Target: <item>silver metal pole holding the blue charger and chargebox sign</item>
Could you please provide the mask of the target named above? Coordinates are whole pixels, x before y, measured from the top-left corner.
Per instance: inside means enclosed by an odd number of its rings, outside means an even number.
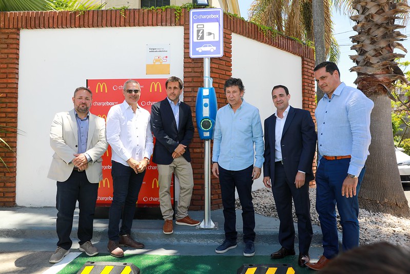
[[[210,58],[204,58],[204,87],[210,87]],[[211,140],[204,140],[204,186],[205,208],[204,221],[197,228],[217,229],[218,224],[211,220]]]

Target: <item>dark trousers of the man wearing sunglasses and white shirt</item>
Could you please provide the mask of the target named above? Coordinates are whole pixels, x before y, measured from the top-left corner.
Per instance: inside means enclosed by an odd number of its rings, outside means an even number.
[[[131,233],[135,204],[138,200],[145,170],[136,174],[132,168],[112,161],[111,175],[113,197],[109,211],[108,238],[118,242],[120,235]]]

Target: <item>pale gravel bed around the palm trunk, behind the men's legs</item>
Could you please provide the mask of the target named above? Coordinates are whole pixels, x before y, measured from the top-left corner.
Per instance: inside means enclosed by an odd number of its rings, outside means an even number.
[[[316,212],[316,189],[309,189],[310,216],[312,223],[320,226],[319,216]],[[278,217],[274,197],[270,189],[262,188],[252,191],[253,207],[255,212],[264,216]],[[239,199],[236,200],[237,208],[241,208]],[[294,221],[297,222],[294,212]],[[336,210],[339,220],[339,214]],[[395,245],[410,245],[410,218],[399,218],[390,214],[368,212],[359,209],[360,244],[375,242],[389,242]],[[338,229],[342,231],[338,223]]]

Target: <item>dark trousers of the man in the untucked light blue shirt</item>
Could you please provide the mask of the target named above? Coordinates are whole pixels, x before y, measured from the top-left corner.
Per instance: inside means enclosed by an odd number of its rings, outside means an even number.
[[[219,166],[219,182],[221,185],[222,205],[225,217],[225,239],[236,243],[235,188],[238,191],[242,206],[243,241],[255,241],[255,210],[252,204],[252,170],[253,166],[244,170],[231,171]]]

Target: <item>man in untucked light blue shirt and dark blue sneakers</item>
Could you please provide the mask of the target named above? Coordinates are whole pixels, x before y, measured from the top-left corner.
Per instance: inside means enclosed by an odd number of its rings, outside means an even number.
[[[215,252],[225,253],[237,247],[235,188],[242,206],[243,255],[255,254],[255,211],[252,183],[261,175],[263,132],[259,110],[243,100],[241,79],[229,78],[224,85],[228,104],[219,109],[212,151],[212,173],[219,178],[225,217],[225,241]],[[253,165],[255,161],[255,166]]]

